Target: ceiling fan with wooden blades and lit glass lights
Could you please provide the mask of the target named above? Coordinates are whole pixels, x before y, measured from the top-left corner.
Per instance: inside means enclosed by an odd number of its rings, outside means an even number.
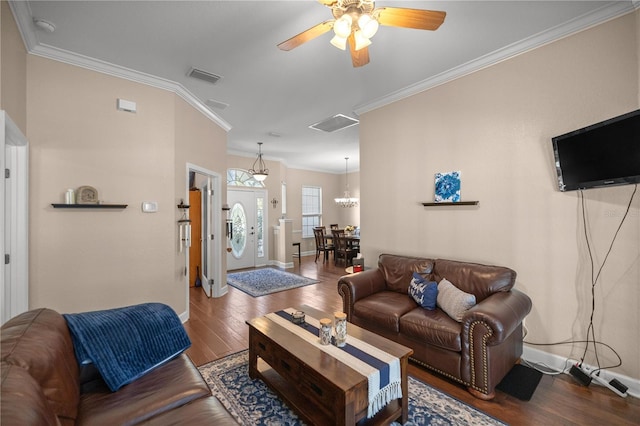
[[[444,22],[446,12],[400,7],[375,8],[373,0],[318,0],[331,9],[334,19],[321,22],[289,40],[278,44],[280,50],[292,50],[303,43],[321,36],[333,28],[335,36],[331,44],[346,50],[349,43],[354,67],[369,63],[371,37],[379,25],[389,27],[437,30]]]

